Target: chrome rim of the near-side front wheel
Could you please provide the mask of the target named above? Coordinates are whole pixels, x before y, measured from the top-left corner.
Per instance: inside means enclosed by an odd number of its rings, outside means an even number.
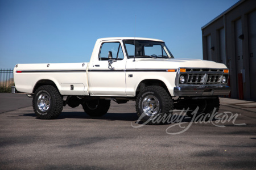
[[[153,95],[144,97],[142,101],[142,109],[147,116],[154,116],[159,111],[159,101]]]

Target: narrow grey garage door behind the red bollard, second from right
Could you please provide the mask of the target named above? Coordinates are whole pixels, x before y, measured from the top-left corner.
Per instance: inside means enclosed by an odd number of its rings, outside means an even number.
[[[239,36],[242,35],[242,20],[238,19],[234,23],[234,29],[235,29],[235,51],[236,51],[236,71],[237,74],[241,73],[241,70],[243,69],[243,44],[242,40],[239,39]],[[236,76],[237,76],[236,74]],[[238,96],[238,79],[237,79],[237,96]]]

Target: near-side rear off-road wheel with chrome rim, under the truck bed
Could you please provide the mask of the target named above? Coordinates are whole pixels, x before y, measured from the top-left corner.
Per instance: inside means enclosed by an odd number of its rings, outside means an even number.
[[[39,106],[40,103],[43,103],[43,96],[45,96],[44,98],[48,98],[47,109]],[[39,102],[39,99],[41,99],[41,102]],[[35,91],[32,105],[36,116],[40,119],[54,119],[60,115],[63,109],[63,96],[51,85],[40,86]]]

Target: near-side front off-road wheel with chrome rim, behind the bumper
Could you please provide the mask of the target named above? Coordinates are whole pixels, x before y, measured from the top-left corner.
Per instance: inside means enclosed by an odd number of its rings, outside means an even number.
[[[153,102],[152,102],[153,101]],[[154,104],[152,104],[152,103]],[[157,103],[155,105],[155,103]],[[159,106],[158,106],[159,104]],[[155,111],[145,111],[145,108]],[[148,125],[164,124],[164,117],[171,116],[174,109],[174,103],[168,92],[160,86],[148,86],[139,92],[136,100],[136,111],[139,121]]]

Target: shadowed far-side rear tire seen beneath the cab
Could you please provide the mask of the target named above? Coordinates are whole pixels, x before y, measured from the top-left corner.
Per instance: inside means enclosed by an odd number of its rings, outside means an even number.
[[[97,99],[82,102],[84,112],[92,117],[103,116],[109,111],[110,100]]]

